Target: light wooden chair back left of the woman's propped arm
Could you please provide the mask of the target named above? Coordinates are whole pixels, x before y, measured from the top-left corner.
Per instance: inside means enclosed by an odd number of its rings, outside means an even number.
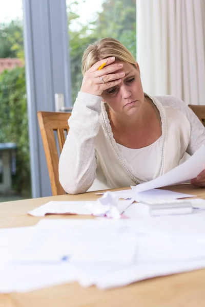
[[[65,194],[58,180],[58,161],[69,131],[71,113],[37,112],[53,195]],[[56,131],[56,133],[55,133]],[[55,135],[56,134],[56,135]],[[56,140],[58,141],[58,148]]]

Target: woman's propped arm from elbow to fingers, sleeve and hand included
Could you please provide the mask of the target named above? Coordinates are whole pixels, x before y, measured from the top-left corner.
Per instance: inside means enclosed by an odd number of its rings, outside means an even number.
[[[105,61],[106,66],[99,70]],[[99,131],[101,94],[121,82],[116,72],[120,64],[114,62],[115,57],[100,60],[84,75],[59,159],[59,181],[67,193],[86,192],[96,178],[94,138]]]

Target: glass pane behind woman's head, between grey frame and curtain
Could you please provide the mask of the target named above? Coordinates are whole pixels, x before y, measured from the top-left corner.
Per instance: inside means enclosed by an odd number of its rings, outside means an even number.
[[[136,0],[67,0],[66,4],[74,103],[82,81],[81,58],[89,43],[111,36],[136,57]]]

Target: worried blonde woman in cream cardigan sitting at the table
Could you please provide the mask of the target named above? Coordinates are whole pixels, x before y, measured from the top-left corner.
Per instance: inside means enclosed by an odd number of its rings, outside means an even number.
[[[205,129],[183,101],[144,93],[139,65],[119,41],[108,37],[90,45],[82,72],[59,160],[59,181],[66,192],[152,180],[204,143]],[[204,178],[202,172],[192,183],[205,186]]]

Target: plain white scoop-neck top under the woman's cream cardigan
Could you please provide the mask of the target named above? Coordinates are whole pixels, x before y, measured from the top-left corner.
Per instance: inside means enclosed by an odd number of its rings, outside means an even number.
[[[117,143],[127,162],[137,170],[138,174],[147,181],[154,178],[157,168],[157,161],[160,155],[160,140],[161,137],[149,146],[142,148],[128,148]]]

